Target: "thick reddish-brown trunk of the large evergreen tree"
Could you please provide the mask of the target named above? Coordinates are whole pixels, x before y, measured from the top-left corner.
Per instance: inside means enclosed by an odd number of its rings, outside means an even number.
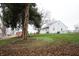
[[[25,19],[23,21],[23,40],[27,40],[27,36],[28,36],[28,21],[29,21],[29,4],[26,3],[25,4]]]

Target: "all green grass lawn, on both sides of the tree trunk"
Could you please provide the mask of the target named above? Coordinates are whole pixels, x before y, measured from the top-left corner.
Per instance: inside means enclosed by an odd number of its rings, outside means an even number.
[[[35,35],[31,35],[31,38],[36,39],[36,40],[41,40],[41,41],[37,41],[37,42],[47,41],[49,43],[56,44],[56,45],[63,45],[65,43],[66,44],[67,43],[79,44],[79,33],[70,33],[70,34],[69,33],[68,34],[35,34]],[[17,41],[18,39],[19,38],[10,38],[10,39],[6,39],[6,40],[0,40],[0,46],[10,44],[12,42]],[[25,41],[23,41],[23,42],[25,42]],[[22,44],[23,44],[23,42],[22,42]],[[35,42],[35,43],[37,43],[37,42]],[[33,44],[34,43],[32,42],[32,44],[30,44],[30,45],[33,45]],[[36,44],[34,44],[34,45],[36,45]]]

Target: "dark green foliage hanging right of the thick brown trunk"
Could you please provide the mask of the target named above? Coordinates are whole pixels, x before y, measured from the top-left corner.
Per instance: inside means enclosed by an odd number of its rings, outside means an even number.
[[[40,28],[41,28],[41,20],[42,20],[42,14],[40,12],[38,12],[37,8],[32,8],[32,6],[30,6],[29,9],[29,18],[30,18],[30,24],[34,24],[35,28],[38,30],[38,33],[40,32]]]

